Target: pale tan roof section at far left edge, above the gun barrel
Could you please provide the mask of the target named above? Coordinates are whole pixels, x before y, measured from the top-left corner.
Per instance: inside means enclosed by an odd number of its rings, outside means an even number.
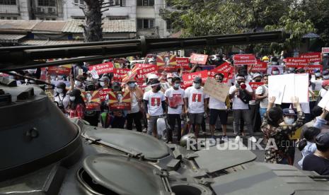
[[[0,30],[32,30],[41,20],[0,20]]]

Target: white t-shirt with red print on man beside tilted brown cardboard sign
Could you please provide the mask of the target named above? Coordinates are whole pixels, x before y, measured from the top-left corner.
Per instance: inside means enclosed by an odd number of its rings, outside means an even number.
[[[188,112],[193,114],[204,112],[204,99],[207,97],[205,97],[202,87],[200,89],[193,86],[187,88],[185,98],[188,98]]]

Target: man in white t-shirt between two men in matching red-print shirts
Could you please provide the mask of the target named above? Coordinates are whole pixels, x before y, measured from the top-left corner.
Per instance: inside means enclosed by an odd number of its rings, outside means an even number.
[[[175,122],[178,125],[177,141],[179,143],[181,137],[181,119],[184,106],[185,91],[180,88],[180,78],[175,77],[172,80],[171,88],[168,88],[165,92],[166,101],[168,105],[168,123],[171,129],[168,131],[168,142],[173,141],[173,130],[175,129]]]

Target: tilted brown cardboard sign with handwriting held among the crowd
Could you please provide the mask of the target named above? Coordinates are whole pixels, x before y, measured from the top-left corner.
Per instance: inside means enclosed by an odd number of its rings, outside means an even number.
[[[229,94],[229,85],[225,83],[218,83],[214,78],[207,78],[204,83],[203,91],[221,102],[225,102],[227,95]]]

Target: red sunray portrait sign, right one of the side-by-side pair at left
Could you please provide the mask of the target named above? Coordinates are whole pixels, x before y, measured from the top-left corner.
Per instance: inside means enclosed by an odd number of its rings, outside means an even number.
[[[108,93],[110,110],[131,110],[129,91],[110,91]]]

